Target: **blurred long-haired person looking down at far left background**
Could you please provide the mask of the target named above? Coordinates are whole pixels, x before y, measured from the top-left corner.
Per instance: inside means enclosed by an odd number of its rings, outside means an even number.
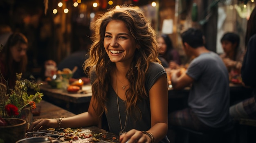
[[[13,33],[0,52],[0,82],[8,88],[14,88],[16,73],[26,76],[27,48],[27,37],[22,33]]]

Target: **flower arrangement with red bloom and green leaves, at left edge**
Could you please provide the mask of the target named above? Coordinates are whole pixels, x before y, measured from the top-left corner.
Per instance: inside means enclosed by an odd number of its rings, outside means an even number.
[[[36,81],[21,79],[22,73],[16,73],[17,79],[14,89],[2,88],[0,90],[0,116],[17,118],[25,107],[36,108],[36,103],[42,100],[43,94],[40,93],[40,84]],[[3,84],[2,84],[2,87]],[[36,93],[28,95],[27,90],[34,89]]]

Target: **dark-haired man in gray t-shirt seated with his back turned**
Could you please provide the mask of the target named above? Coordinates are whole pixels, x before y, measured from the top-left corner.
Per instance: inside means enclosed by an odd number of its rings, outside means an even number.
[[[181,35],[188,56],[195,57],[185,73],[172,72],[174,89],[191,86],[189,108],[169,114],[169,125],[208,131],[229,121],[229,74],[222,59],[204,46],[202,32],[188,29]]]

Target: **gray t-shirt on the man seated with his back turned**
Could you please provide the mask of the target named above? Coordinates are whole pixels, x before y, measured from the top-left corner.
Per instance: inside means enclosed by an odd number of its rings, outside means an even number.
[[[193,59],[187,75],[194,79],[188,104],[200,121],[213,128],[229,121],[229,74],[219,55],[203,53]]]

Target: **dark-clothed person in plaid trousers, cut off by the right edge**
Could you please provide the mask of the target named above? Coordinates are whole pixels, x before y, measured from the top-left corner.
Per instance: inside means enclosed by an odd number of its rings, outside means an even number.
[[[252,97],[230,107],[234,118],[256,119],[256,8],[253,9],[247,22],[245,47],[246,53],[241,68],[243,84],[253,89]]]

